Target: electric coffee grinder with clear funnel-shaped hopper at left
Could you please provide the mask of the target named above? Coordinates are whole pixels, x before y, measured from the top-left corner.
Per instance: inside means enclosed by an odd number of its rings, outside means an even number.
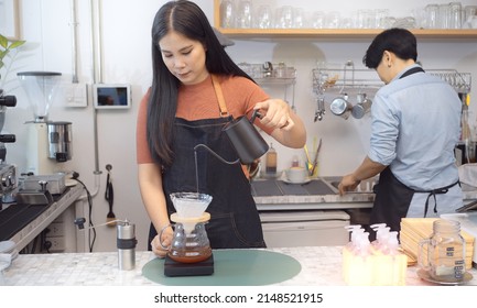
[[[34,120],[28,121],[26,173],[51,175],[72,160],[72,123],[48,121],[50,107],[57,95],[61,73],[23,72],[17,74],[26,92]]]

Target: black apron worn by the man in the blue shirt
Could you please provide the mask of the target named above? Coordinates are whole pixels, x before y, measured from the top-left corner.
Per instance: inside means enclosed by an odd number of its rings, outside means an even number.
[[[424,72],[421,67],[414,67],[405,72],[400,78],[404,78],[409,75]],[[408,213],[409,207],[411,206],[414,193],[426,193],[429,194],[423,209],[423,217],[426,217],[429,209],[429,199],[434,197],[434,212],[437,212],[436,195],[446,194],[448,189],[459,182],[451,184],[445,187],[441,187],[433,190],[414,190],[402,184],[392,174],[388,166],[379,175],[379,182],[373,187],[376,194],[375,204],[371,211],[370,224],[386,223],[391,228],[392,231],[401,230],[401,219]],[[371,234],[372,239],[373,234]]]

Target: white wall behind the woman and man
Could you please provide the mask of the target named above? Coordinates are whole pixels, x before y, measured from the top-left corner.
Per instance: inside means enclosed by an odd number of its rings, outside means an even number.
[[[96,3],[97,0],[94,0]],[[91,36],[90,36],[90,1],[78,2],[78,59],[79,81],[91,84],[93,74]],[[141,0],[102,0],[102,78],[96,81],[127,82],[132,86],[132,108],[130,110],[99,111],[98,123],[98,170],[95,176],[94,116],[89,103],[87,108],[67,108],[65,101],[55,101],[50,119],[54,121],[72,121],[74,133],[73,161],[65,169],[76,170],[80,179],[88,186],[94,197],[93,222],[97,226],[106,221],[108,205],[104,198],[106,184],[106,164],[112,165],[115,187],[115,213],[119,219],[129,219],[137,223],[137,237],[140,250],[147,246],[149,219],[143,209],[137,185],[135,165],[135,117],[139,101],[150,86],[150,31],[152,19],[159,7],[165,1]],[[213,1],[196,1],[213,22]],[[263,1],[253,1],[253,3]],[[274,6],[291,1],[268,1]],[[413,9],[422,8],[430,1],[403,0],[387,2],[386,7],[397,16],[412,14]],[[447,1],[432,1],[446,3]],[[470,4],[474,0],[463,1]],[[313,4],[311,4],[313,3]],[[327,11],[340,10],[351,14],[358,8],[379,8],[384,6],[379,0],[337,0],[303,1],[295,0],[293,6],[306,7],[308,11],[315,6]],[[358,4],[359,3],[359,4]],[[306,6],[305,6],[306,4]],[[26,46],[19,54],[9,75],[3,77],[7,94],[15,95],[18,106],[7,111],[6,125],[2,133],[14,133],[17,143],[8,144],[8,162],[18,164],[20,172],[25,165],[25,121],[32,120],[25,94],[19,87],[17,72],[52,70],[63,74],[62,82],[68,87],[72,80],[72,16],[71,1],[65,0],[22,0],[21,29]],[[227,47],[228,53],[237,62],[273,63],[285,62],[297,69],[295,86],[295,106],[297,113],[304,119],[308,132],[308,146],[313,139],[322,139],[323,147],[319,158],[321,175],[343,175],[353,170],[366,155],[369,138],[369,119],[353,118],[347,121],[333,116],[329,110],[321,122],[313,121],[315,102],[312,96],[311,70],[317,62],[345,63],[354,61],[361,67],[361,57],[370,38],[332,40],[332,38],[289,38],[263,41],[236,41],[236,45]],[[475,40],[420,40],[419,57],[426,68],[456,68],[469,72],[477,80],[477,43]],[[476,89],[476,81],[473,82]],[[282,89],[270,88],[273,96],[283,96]],[[289,100],[291,91],[288,90]],[[475,103],[470,105],[470,119],[475,123]],[[293,154],[303,155],[302,151],[283,148],[274,143],[279,152],[279,169],[286,167]],[[100,184],[100,187],[95,185]],[[116,250],[116,231],[98,228],[95,251]]]

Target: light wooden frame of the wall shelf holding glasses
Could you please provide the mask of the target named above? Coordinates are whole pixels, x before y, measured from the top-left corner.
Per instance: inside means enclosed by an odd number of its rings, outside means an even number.
[[[220,26],[220,1],[214,0],[214,26],[230,38],[371,38],[382,29],[229,29]],[[418,38],[469,40],[477,38],[477,29],[411,29]]]

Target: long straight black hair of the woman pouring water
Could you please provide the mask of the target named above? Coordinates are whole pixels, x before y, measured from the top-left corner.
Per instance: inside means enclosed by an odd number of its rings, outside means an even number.
[[[243,76],[240,69],[220,45],[207,16],[194,2],[170,1],[158,11],[152,25],[152,87],[148,103],[147,136],[152,157],[163,167],[174,160],[172,142],[174,119],[177,109],[180,80],[165,66],[159,41],[170,31],[199,41],[206,48],[205,66],[210,74]]]

